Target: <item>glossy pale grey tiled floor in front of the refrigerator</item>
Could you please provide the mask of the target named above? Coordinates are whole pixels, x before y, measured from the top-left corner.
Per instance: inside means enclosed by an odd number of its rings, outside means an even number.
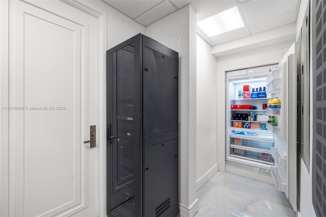
[[[274,185],[228,172],[217,172],[198,192],[195,217],[296,216]]]

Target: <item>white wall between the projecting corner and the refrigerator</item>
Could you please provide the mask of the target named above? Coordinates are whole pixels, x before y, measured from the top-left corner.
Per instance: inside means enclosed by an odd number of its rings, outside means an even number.
[[[197,188],[218,170],[216,58],[211,48],[197,35]]]

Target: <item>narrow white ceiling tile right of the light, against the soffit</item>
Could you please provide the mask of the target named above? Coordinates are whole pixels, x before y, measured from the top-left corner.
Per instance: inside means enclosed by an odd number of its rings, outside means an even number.
[[[259,32],[263,32],[269,29],[274,29],[279,26],[283,26],[295,21],[296,12],[292,12],[289,14],[285,14],[283,16],[276,17],[274,19],[261,22],[252,26],[249,26],[251,34],[256,34]]]

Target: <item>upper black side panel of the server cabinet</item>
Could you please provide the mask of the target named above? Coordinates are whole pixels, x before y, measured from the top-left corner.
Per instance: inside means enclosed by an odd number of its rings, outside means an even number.
[[[178,61],[144,48],[144,136],[178,129]]]

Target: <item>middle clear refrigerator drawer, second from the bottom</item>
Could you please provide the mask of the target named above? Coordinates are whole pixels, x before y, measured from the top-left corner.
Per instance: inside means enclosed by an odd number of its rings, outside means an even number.
[[[259,149],[259,150],[267,150],[268,152],[270,152],[271,148],[274,147],[273,141],[245,139],[245,138],[237,138],[237,137],[231,137],[231,144],[245,146],[245,147]]]

